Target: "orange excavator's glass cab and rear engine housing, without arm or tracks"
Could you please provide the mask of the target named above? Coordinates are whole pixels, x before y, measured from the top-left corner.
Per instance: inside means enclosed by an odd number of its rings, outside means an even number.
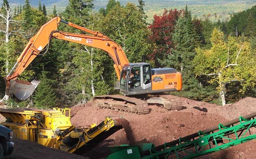
[[[174,68],[151,69],[148,63],[129,63],[120,75],[120,91],[128,96],[182,89],[181,73]]]

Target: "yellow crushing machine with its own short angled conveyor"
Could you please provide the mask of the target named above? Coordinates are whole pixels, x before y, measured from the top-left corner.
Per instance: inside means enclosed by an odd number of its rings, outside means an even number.
[[[80,154],[93,148],[122,128],[115,120],[105,118],[100,124],[76,129],[70,122],[70,109],[2,109],[14,138],[37,142],[47,147]],[[117,119],[118,120],[118,119]]]

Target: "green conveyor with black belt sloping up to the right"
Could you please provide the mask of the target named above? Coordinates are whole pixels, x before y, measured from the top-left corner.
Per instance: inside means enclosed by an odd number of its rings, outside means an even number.
[[[109,147],[107,159],[192,159],[256,139],[256,113],[155,147],[146,143]],[[251,131],[254,129],[254,131]]]

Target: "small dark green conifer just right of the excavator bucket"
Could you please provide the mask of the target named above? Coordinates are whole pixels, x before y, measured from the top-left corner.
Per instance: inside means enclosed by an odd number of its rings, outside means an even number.
[[[35,90],[35,95],[32,97],[37,108],[53,108],[56,106],[56,94],[52,88],[53,80],[47,79],[46,75],[49,72],[42,71],[39,80],[41,82]]]

